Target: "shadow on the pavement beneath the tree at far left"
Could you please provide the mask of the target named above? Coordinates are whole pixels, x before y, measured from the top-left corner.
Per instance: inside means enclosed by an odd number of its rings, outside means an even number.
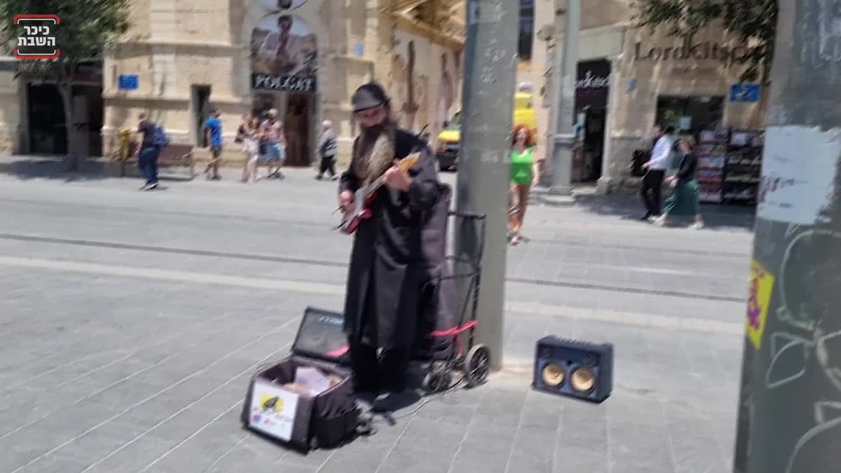
[[[78,170],[68,171],[63,157],[0,157],[0,174],[7,174],[20,180],[50,179],[66,183],[77,181],[96,181],[114,177],[119,169],[115,164],[93,158],[81,158]]]

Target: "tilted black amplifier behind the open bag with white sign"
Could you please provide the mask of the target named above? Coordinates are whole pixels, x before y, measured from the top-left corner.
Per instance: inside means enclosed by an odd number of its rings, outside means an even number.
[[[345,316],[341,312],[307,307],[295,336],[295,353],[312,359],[348,364]]]

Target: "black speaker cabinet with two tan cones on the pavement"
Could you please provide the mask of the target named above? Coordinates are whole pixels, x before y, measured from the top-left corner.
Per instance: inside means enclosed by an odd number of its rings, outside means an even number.
[[[532,388],[601,402],[613,390],[613,345],[559,337],[537,341]]]

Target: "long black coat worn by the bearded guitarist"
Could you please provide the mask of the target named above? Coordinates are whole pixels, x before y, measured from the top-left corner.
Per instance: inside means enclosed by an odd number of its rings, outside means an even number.
[[[413,152],[421,157],[410,168],[409,191],[380,188],[370,205],[372,217],[354,235],[345,298],[345,332],[351,342],[388,349],[409,348],[415,341],[418,291],[426,270],[421,230],[436,202],[438,176],[429,146],[397,130],[394,157]],[[359,189],[353,168],[341,175],[339,193]]]

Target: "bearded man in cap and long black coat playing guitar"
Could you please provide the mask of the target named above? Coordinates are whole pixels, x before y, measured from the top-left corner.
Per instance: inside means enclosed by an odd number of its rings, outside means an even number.
[[[347,274],[345,332],[353,382],[360,394],[399,394],[418,325],[426,271],[421,230],[438,196],[436,164],[423,141],[396,125],[378,84],[362,85],[351,103],[361,133],[351,166],[339,179],[341,209],[353,215],[357,190],[381,176],[385,183],[368,206],[371,218],[354,233]],[[408,173],[401,171],[396,163],[413,152],[420,153],[418,161]]]

